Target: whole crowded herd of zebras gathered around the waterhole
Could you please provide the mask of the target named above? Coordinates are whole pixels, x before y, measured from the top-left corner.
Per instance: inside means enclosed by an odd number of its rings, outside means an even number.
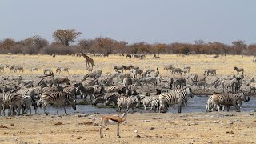
[[[190,66],[185,66],[183,70],[171,65],[165,66],[164,70],[171,70],[171,74],[178,72],[181,75],[186,73],[187,76],[186,78],[170,78],[162,77],[158,68],[142,70],[138,66],[122,65],[114,66],[114,72],[109,74],[103,74],[102,70],[94,70],[83,76],[80,82],[72,82],[72,84],[70,84],[69,78],[47,77],[41,78],[38,84],[31,84],[26,88],[24,88],[24,83],[34,83],[33,80],[18,78],[18,85],[0,89],[2,92],[0,114],[6,115],[6,109],[9,109],[8,114],[10,115],[26,114],[28,110],[31,114],[31,106],[34,106],[36,114],[38,114],[39,107],[43,107],[44,113],[48,114],[46,107],[52,105],[58,106],[57,114],[61,106],[66,113],[65,106],[71,106],[73,110],[76,110],[78,95],[81,99],[89,99],[92,105],[102,103],[104,106],[117,106],[118,111],[121,111],[122,108],[126,108],[126,111],[131,108],[134,111],[134,108],[143,106],[145,110],[150,108],[150,111],[166,112],[170,106],[178,105],[178,113],[181,113],[182,106],[186,106],[190,102],[190,98],[194,98],[194,90],[191,86],[194,83],[195,85],[206,85],[206,76],[216,74],[216,70],[207,69],[204,78],[198,78],[196,74],[189,74],[190,69]],[[181,73],[179,73],[180,70],[182,70]],[[244,71],[238,68],[234,68],[234,70],[237,70],[238,74],[239,72],[243,74]],[[49,71],[53,73],[52,70]],[[57,72],[58,70],[56,70]],[[206,101],[206,111],[220,111],[225,107],[229,110],[230,106],[242,111],[242,102],[248,102],[250,98],[246,98],[245,94],[239,91],[241,79],[236,76],[234,78],[218,78],[214,82],[214,86],[223,85],[223,91],[227,86],[230,88],[231,94],[211,95]],[[192,82],[191,85],[187,84],[189,80]],[[162,89],[165,82],[170,86],[169,90]],[[152,87],[153,90],[150,89]]]

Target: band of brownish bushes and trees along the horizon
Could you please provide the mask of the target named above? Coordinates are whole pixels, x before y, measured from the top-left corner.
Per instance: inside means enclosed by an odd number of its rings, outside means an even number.
[[[242,40],[231,42],[230,45],[202,40],[196,40],[194,43],[128,44],[125,41],[103,37],[78,40],[81,34],[74,29],[58,29],[54,31],[54,42],[51,43],[38,35],[20,41],[6,38],[0,41],[0,54],[74,54],[80,50],[94,54],[256,54],[256,44],[247,45]]]

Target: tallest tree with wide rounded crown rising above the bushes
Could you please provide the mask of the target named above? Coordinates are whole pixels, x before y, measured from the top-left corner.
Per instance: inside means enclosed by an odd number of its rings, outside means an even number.
[[[54,31],[53,38],[55,39],[55,41],[62,42],[64,46],[69,46],[70,42],[74,42],[75,39],[77,39],[78,36],[81,34],[81,32],[74,29],[58,29]]]

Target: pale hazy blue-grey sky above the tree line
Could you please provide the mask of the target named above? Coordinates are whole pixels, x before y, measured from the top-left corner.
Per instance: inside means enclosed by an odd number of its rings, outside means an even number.
[[[1,0],[0,40],[76,29],[78,39],[256,43],[255,0]]]

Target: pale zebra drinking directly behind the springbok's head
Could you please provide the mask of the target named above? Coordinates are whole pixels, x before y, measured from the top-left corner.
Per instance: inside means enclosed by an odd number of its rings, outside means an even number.
[[[132,108],[133,112],[134,112],[134,107],[139,107],[140,105],[140,99],[138,97],[138,95],[136,96],[130,96],[130,97],[126,97],[126,96],[122,96],[120,98],[118,98],[118,111],[121,112],[122,106],[127,106],[126,111],[128,112],[130,107]]]

